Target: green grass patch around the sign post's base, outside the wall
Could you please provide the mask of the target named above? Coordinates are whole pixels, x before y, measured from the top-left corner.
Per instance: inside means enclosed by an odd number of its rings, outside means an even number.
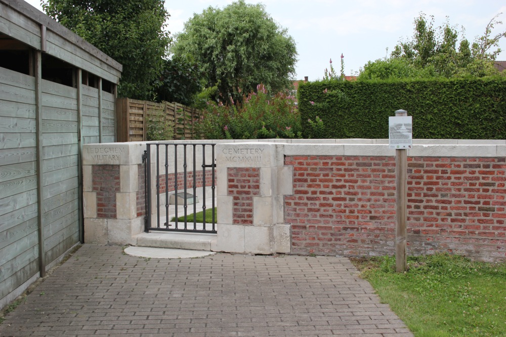
[[[353,259],[382,302],[417,337],[506,336],[506,264],[471,262],[448,254]]]

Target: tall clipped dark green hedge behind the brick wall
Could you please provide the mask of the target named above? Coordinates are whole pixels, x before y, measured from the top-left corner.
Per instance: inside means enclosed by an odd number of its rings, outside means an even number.
[[[413,138],[506,139],[502,78],[307,82],[298,95],[303,130],[318,116],[325,138],[388,138],[388,117],[403,109]]]

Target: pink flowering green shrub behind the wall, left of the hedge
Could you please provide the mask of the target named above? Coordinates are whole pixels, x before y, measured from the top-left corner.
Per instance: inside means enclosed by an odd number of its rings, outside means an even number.
[[[271,96],[263,84],[243,95],[242,104],[209,102],[195,125],[203,139],[301,138],[301,115],[295,98]]]

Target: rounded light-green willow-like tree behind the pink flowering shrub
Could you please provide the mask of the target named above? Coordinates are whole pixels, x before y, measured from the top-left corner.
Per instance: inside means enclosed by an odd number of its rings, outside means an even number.
[[[217,86],[223,101],[263,83],[278,91],[290,85],[297,62],[296,44],[263,5],[234,2],[209,7],[185,23],[171,49],[176,57],[197,62],[206,86]]]

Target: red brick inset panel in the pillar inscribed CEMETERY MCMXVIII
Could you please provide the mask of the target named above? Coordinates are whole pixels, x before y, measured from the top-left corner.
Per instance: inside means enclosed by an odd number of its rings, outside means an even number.
[[[233,197],[232,223],[253,224],[253,197],[260,195],[260,168],[229,167],[228,195]]]

